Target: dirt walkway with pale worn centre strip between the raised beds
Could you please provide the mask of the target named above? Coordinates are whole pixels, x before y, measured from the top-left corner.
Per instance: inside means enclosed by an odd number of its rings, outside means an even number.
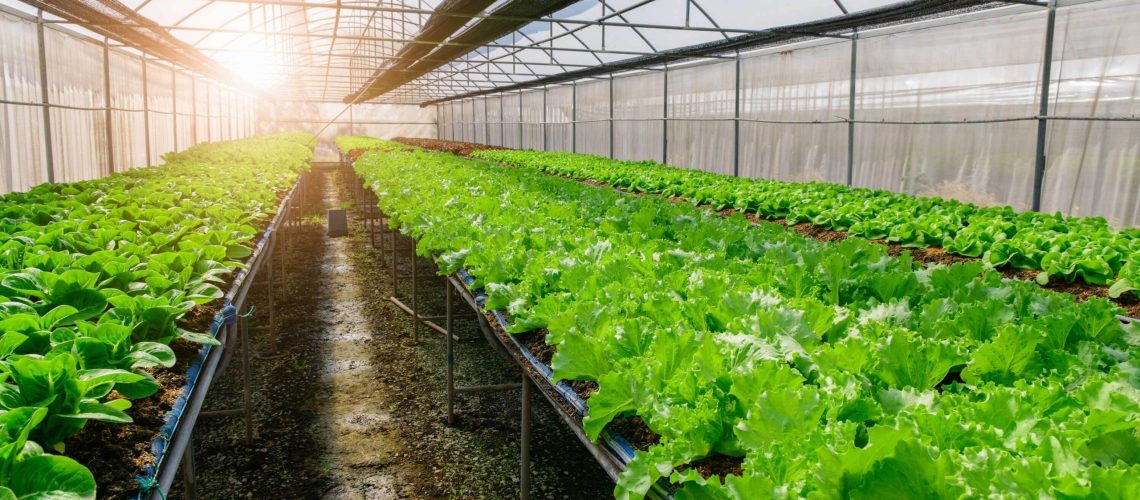
[[[412,342],[410,320],[388,302],[390,269],[359,221],[353,236],[329,238],[316,215],[351,199],[340,175],[320,175],[320,206],[298,232],[287,282],[278,284],[280,356],[253,369],[258,437],[244,444],[241,418],[198,424],[199,497],[516,498],[519,394],[461,399],[457,424],[445,424],[442,336],[424,328]],[[420,265],[425,273],[431,263]],[[408,285],[400,281],[405,293]],[[442,286],[441,278],[421,286],[426,314],[442,312]],[[456,334],[461,385],[516,382],[518,370],[473,320],[458,321]],[[272,351],[268,331],[253,335],[258,352]],[[241,402],[238,374],[235,363],[206,408]],[[540,395],[534,407],[532,497],[610,497],[609,478]]]

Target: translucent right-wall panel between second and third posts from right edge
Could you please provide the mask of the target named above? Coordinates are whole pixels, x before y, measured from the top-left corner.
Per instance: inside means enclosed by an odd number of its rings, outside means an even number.
[[[847,42],[741,59],[740,175],[847,182],[849,85]]]

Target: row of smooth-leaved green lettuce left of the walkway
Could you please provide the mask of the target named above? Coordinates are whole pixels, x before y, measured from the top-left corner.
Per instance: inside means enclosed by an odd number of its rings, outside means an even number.
[[[0,498],[93,498],[63,454],[88,421],[130,423],[178,327],[219,288],[308,169],[312,136],[203,144],[165,164],[0,197]]]

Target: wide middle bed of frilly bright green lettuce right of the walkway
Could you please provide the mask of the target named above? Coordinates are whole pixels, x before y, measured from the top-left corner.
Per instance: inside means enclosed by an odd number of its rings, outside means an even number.
[[[597,382],[589,436],[629,416],[660,436],[618,498],[662,477],[677,498],[1140,495],[1140,328],[1105,300],[536,169],[356,170],[441,272],[547,329],[554,379]],[[740,467],[706,477],[715,457]]]

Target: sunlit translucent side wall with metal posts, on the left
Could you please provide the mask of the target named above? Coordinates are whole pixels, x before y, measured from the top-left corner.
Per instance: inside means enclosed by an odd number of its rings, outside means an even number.
[[[252,96],[3,6],[0,62],[0,195],[253,133]]]

